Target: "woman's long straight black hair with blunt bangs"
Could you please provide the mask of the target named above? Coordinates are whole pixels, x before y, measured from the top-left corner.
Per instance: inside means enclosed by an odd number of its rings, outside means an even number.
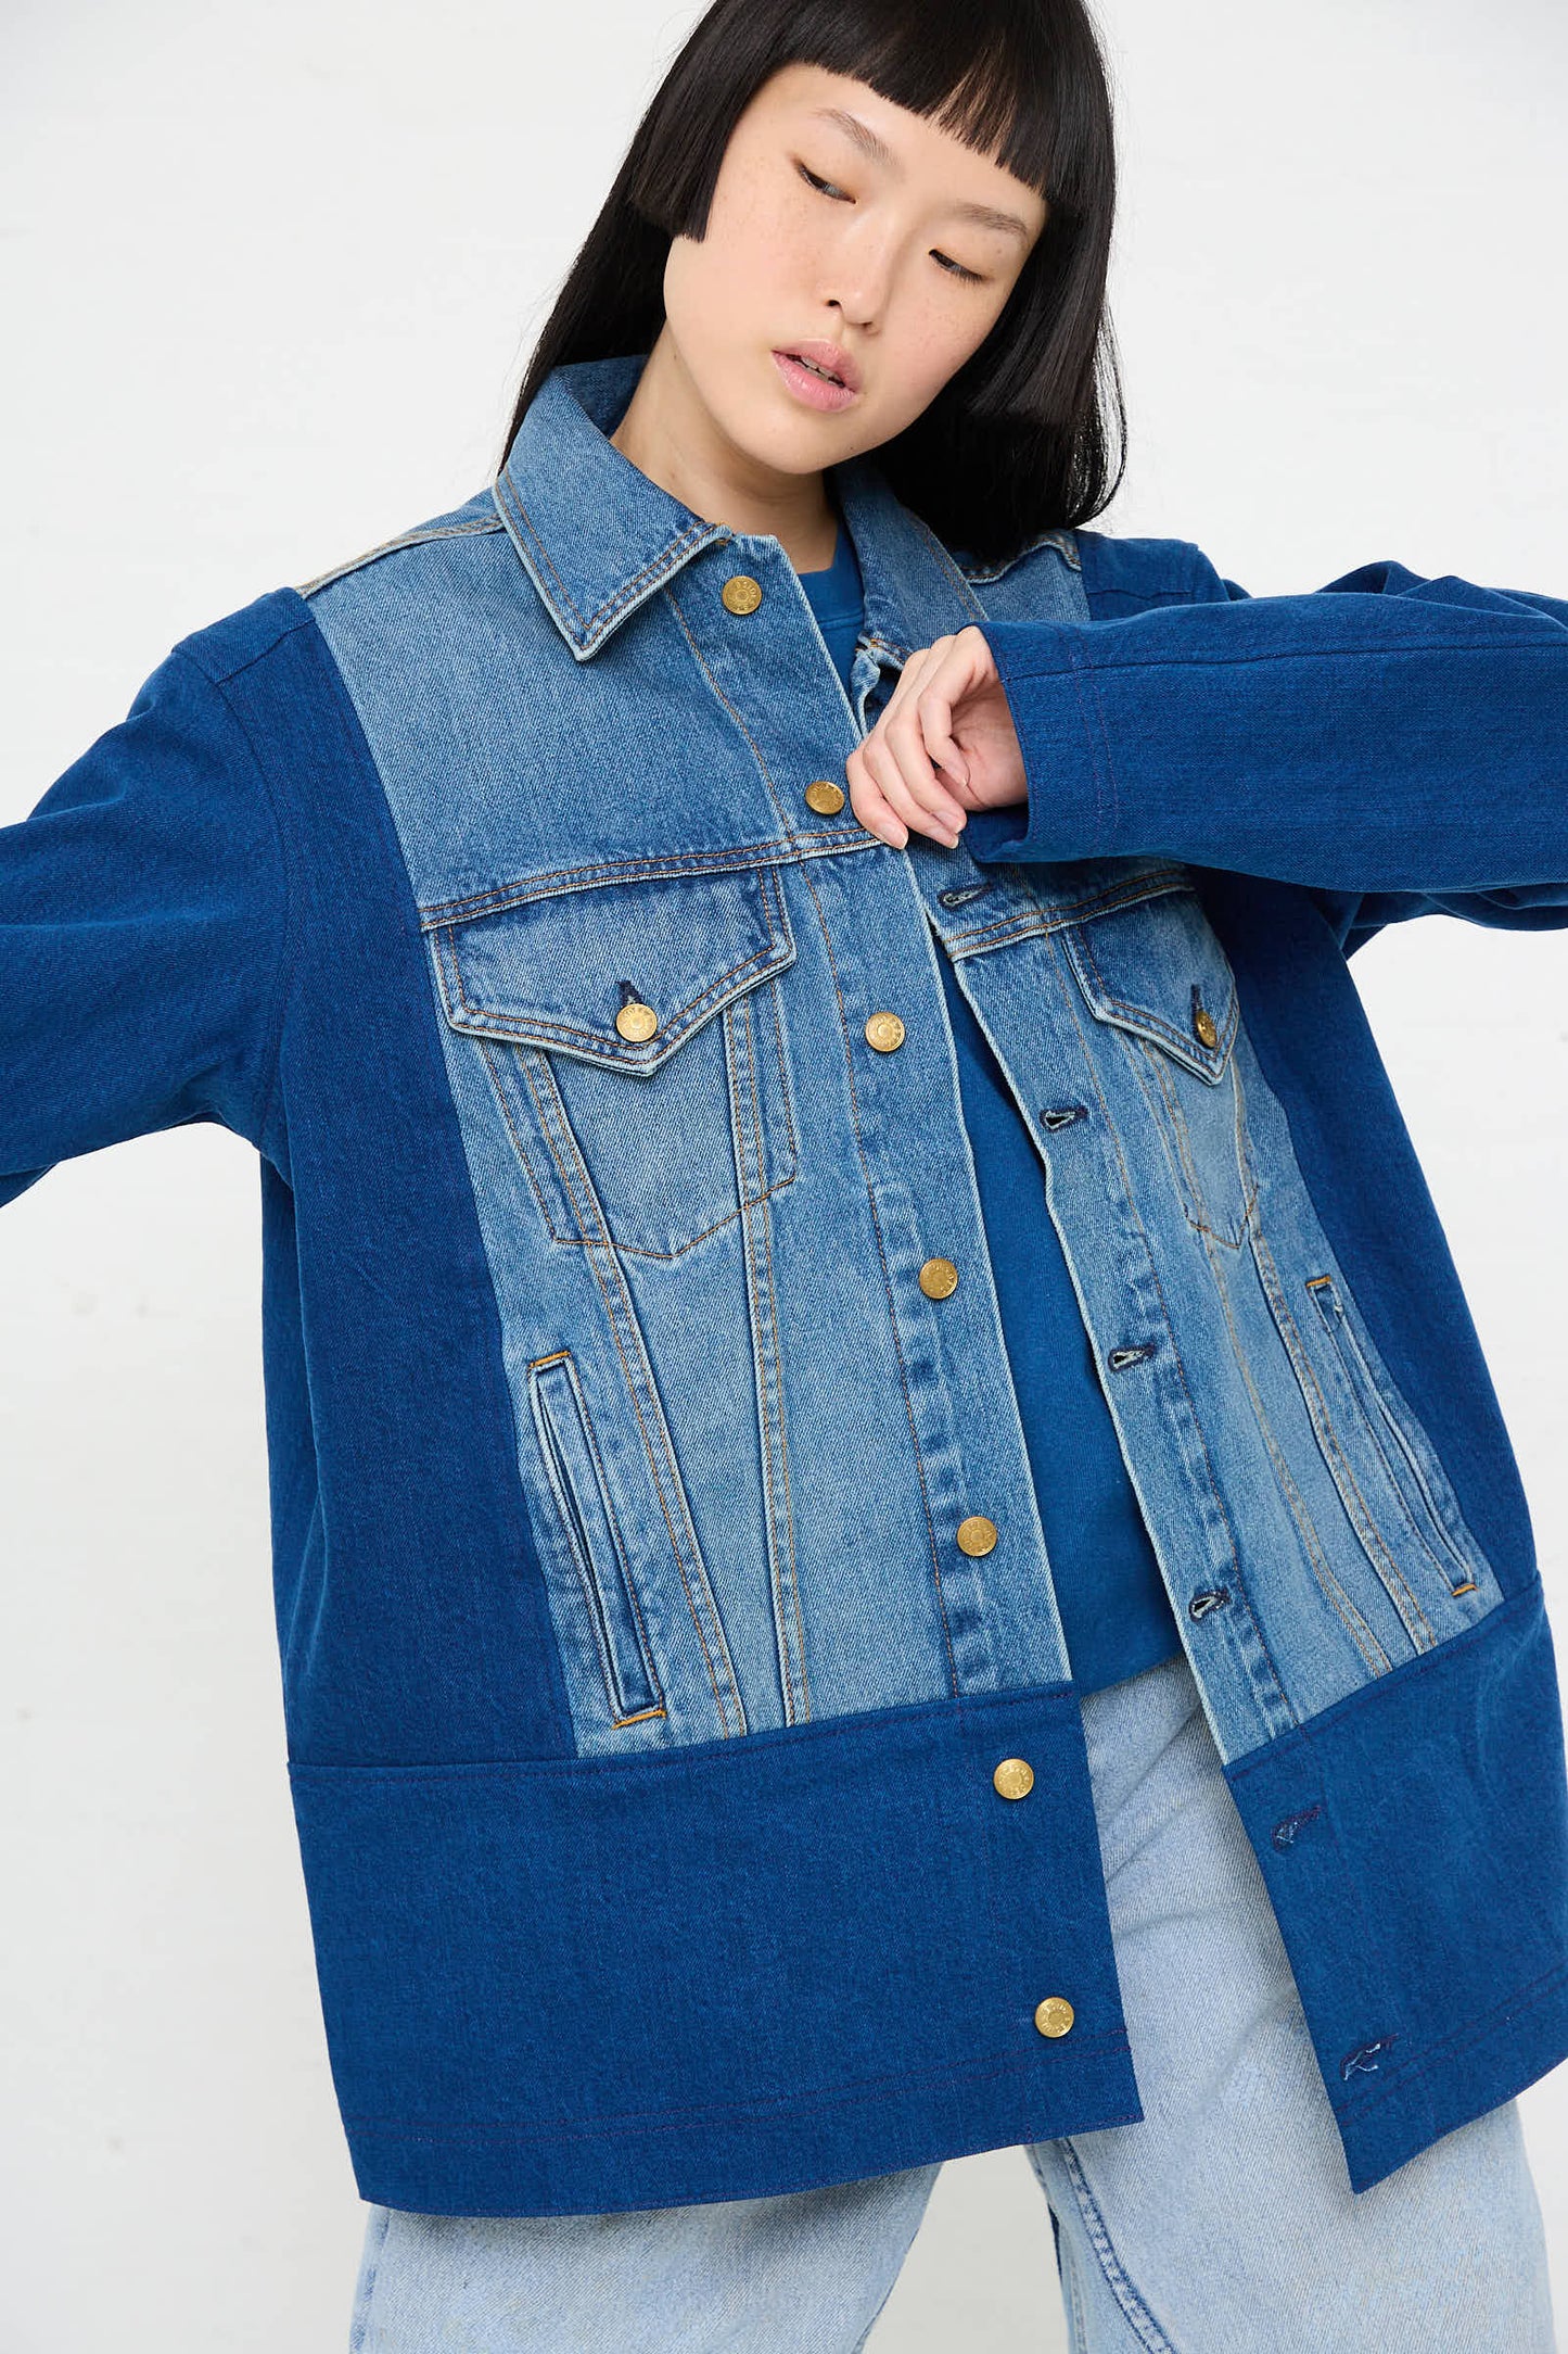
[[[870,82],[1051,207],[980,348],[877,450],[891,487],[940,539],[985,560],[1098,516],[1126,464],[1126,410],[1105,308],[1112,106],[1084,0],[715,0],[571,264],[508,450],[552,367],[651,351],[670,240],[703,238],[736,120],[797,64]]]

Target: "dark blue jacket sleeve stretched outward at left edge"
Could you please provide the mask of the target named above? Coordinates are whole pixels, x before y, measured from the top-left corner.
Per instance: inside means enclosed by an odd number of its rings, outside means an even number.
[[[186,654],[0,829],[0,1203],[221,1121],[261,1144],[287,880],[261,770]]]

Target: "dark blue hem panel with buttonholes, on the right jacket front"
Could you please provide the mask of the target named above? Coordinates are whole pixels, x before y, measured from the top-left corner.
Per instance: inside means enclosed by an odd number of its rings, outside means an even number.
[[[1568,2057],[1568,1803],[1540,1584],[1227,1780],[1354,2189]]]

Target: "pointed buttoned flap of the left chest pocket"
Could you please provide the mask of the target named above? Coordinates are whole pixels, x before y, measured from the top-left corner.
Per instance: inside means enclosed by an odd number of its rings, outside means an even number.
[[[433,942],[454,1029],[632,1073],[658,1071],[731,998],[795,960],[771,866],[550,892],[437,925]],[[646,1038],[616,1029],[630,1005],[654,1015]],[[646,1026],[646,1012],[628,1029]]]

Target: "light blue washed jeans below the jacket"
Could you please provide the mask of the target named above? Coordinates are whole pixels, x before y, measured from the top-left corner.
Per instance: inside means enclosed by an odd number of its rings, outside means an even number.
[[[1145,2119],[1030,2149],[1074,2354],[1552,2354],[1512,2102],[1352,2196],[1185,1657],[1086,1695],[1084,1725]],[[371,2206],[350,2354],[853,2354],[936,2175],[625,2215]]]

